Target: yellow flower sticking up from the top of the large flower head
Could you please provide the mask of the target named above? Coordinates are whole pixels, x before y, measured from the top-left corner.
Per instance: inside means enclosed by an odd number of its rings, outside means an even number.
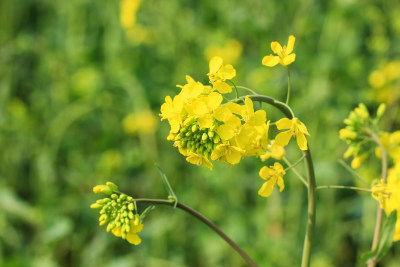
[[[232,88],[225,81],[233,79],[236,76],[236,70],[231,64],[223,65],[221,57],[213,57],[210,60],[210,72],[207,75],[215,90],[221,94],[232,92]]]

